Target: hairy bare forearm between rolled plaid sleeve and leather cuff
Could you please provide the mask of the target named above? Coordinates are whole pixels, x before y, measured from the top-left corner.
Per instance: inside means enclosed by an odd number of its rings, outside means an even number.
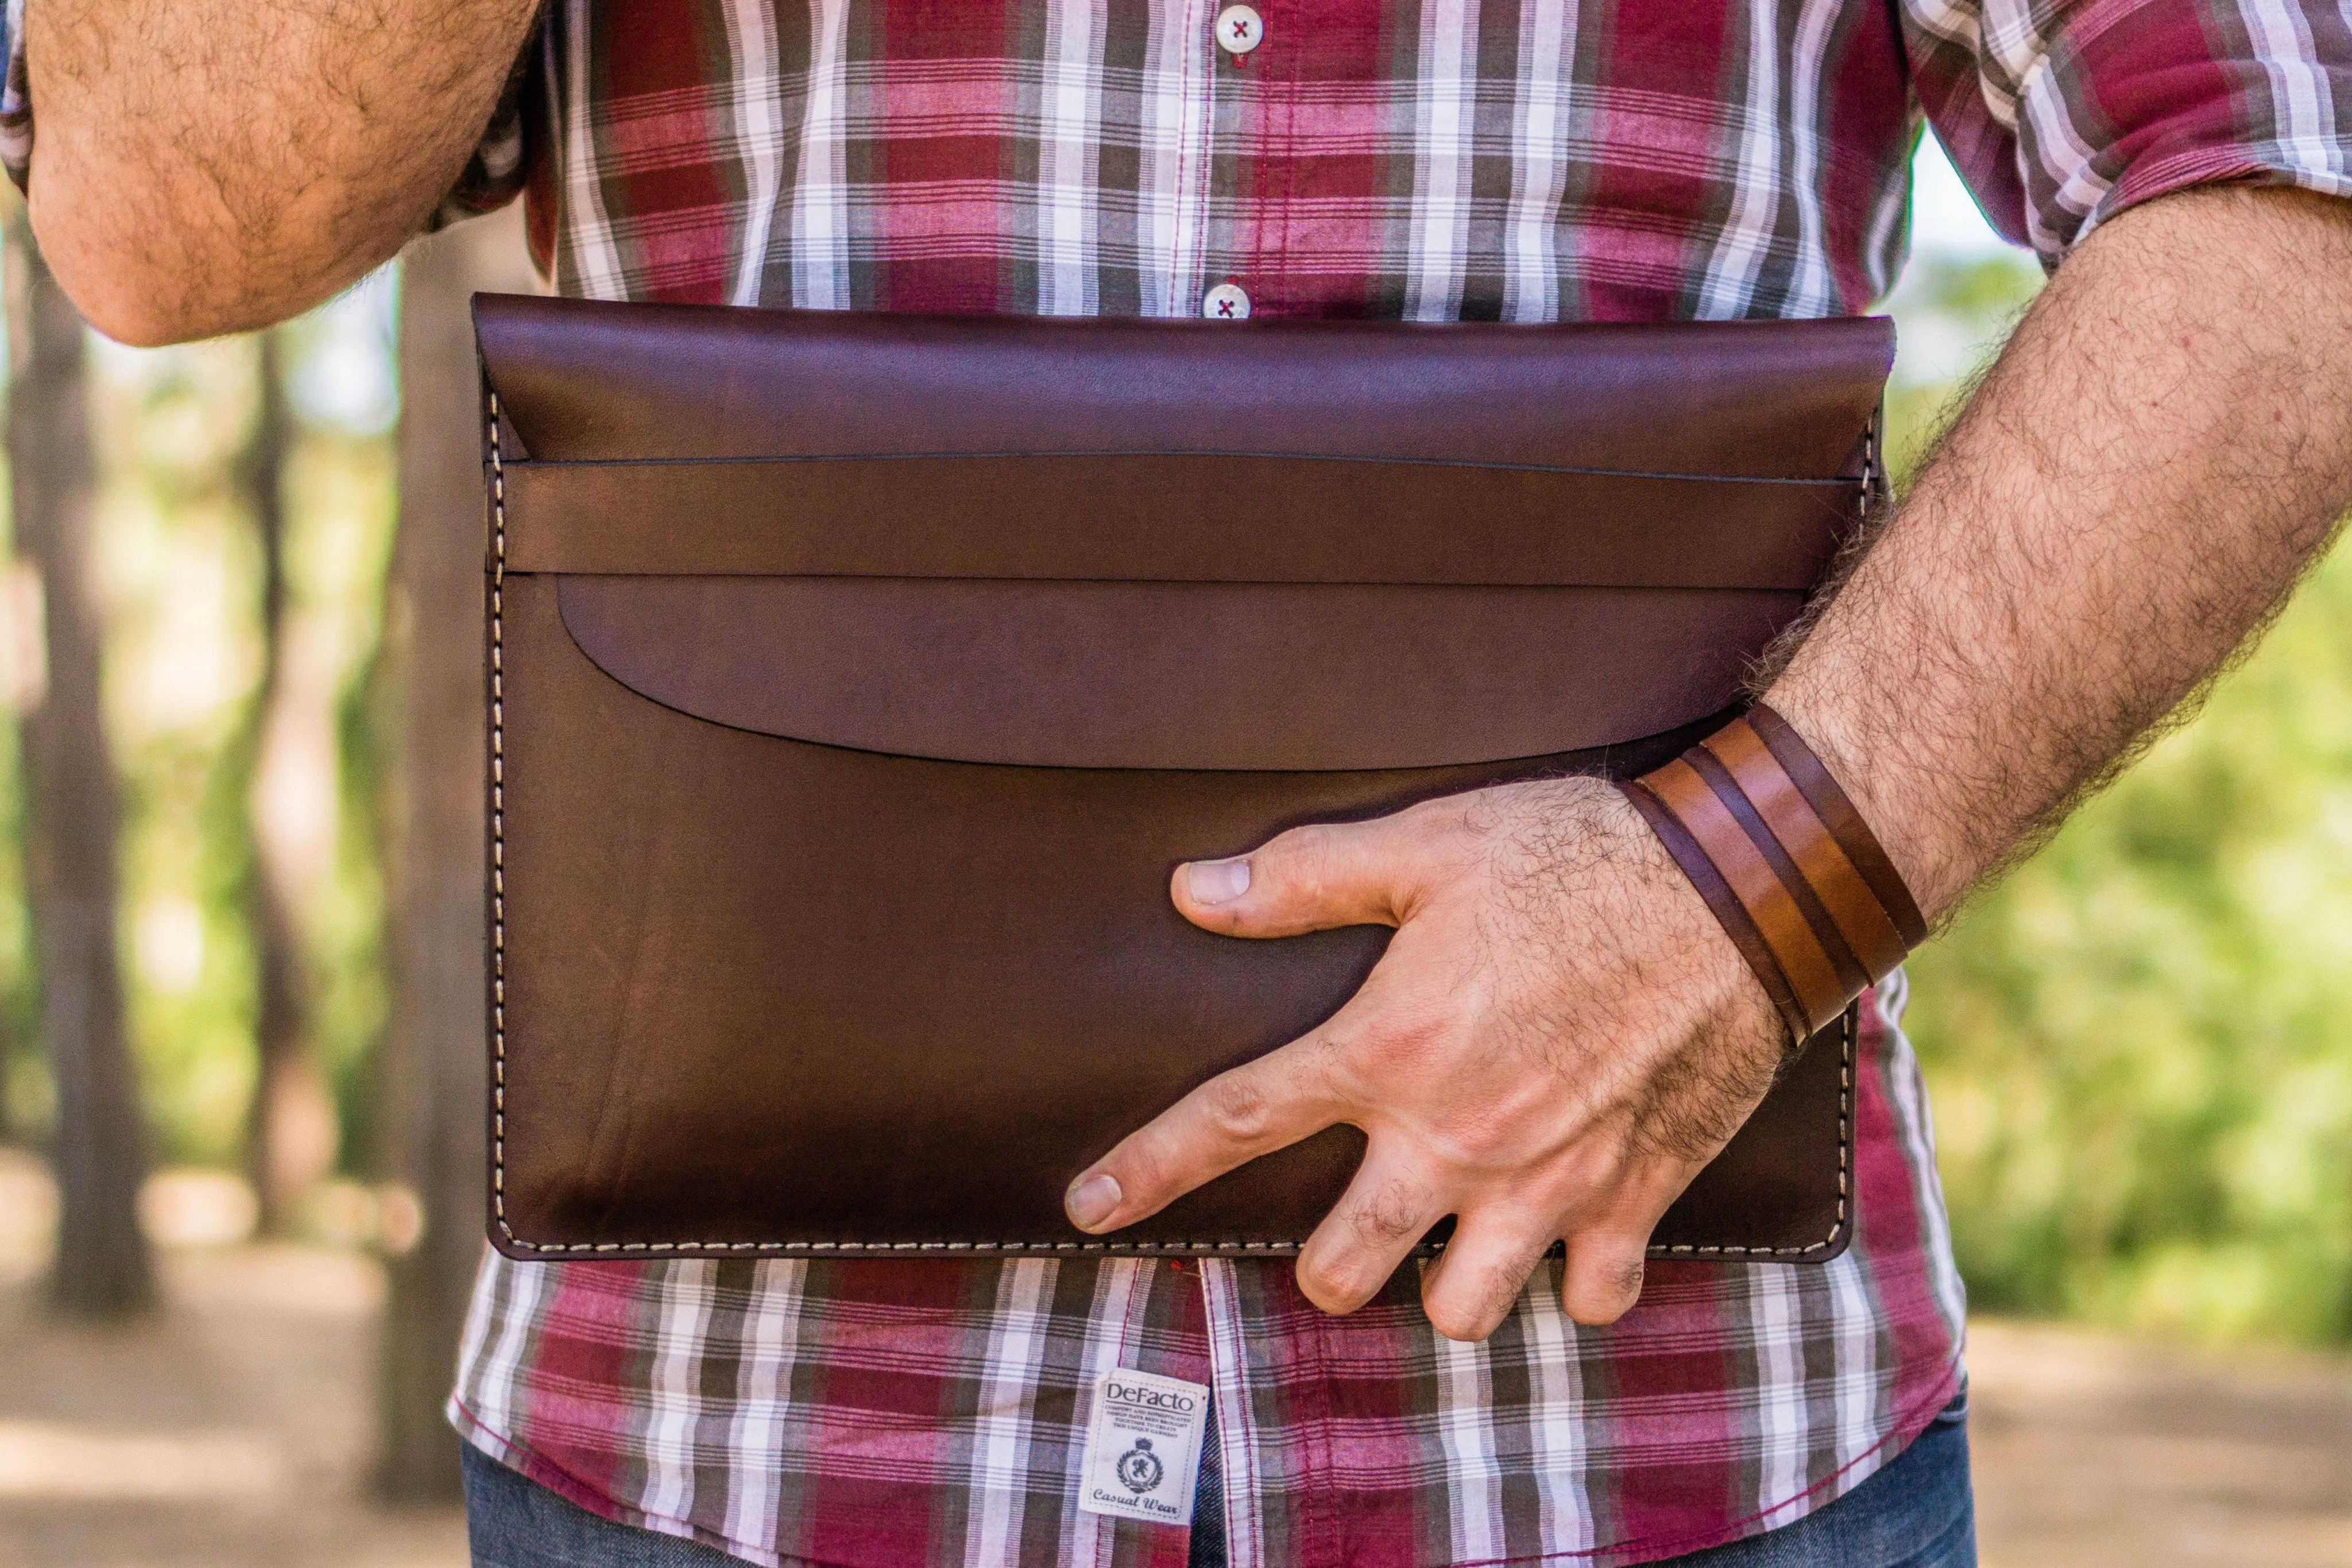
[[[2091,235],[1769,701],[1933,917],[2246,642],[2352,498],[2352,207]]]

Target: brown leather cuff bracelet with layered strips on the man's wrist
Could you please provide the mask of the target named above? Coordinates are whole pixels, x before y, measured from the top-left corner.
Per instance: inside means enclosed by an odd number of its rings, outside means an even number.
[[[1764,983],[1792,1039],[1926,940],[1926,919],[1863,813],[1771,708],[1625,785],[1675,865]]]

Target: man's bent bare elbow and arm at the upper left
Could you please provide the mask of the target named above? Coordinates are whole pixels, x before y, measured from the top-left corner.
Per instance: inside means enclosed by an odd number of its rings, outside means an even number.
[[[388,259],[473,153],[536,0],[28,0],[31,219],[134,343],[282,320]]]

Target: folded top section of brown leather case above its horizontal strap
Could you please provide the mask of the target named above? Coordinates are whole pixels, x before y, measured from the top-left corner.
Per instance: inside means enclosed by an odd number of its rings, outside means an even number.
[[[1884,317],[1677,327],[924,317],[475,296],[536,463],[1192,451],[1820,480]]]

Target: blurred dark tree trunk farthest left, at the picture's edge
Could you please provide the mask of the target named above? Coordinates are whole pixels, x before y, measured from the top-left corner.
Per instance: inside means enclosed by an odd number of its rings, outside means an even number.
[[[40,1032],[56,1079],[52,1302],[111,1316],[155,1298],[139,1232],[146,1126],[115,966],[115,769],[106,748],[92,583],[92,456],[82,317],[9,223],[9,473],[16,552],[40,576],[47,689],[24,715],[26,907]]]

